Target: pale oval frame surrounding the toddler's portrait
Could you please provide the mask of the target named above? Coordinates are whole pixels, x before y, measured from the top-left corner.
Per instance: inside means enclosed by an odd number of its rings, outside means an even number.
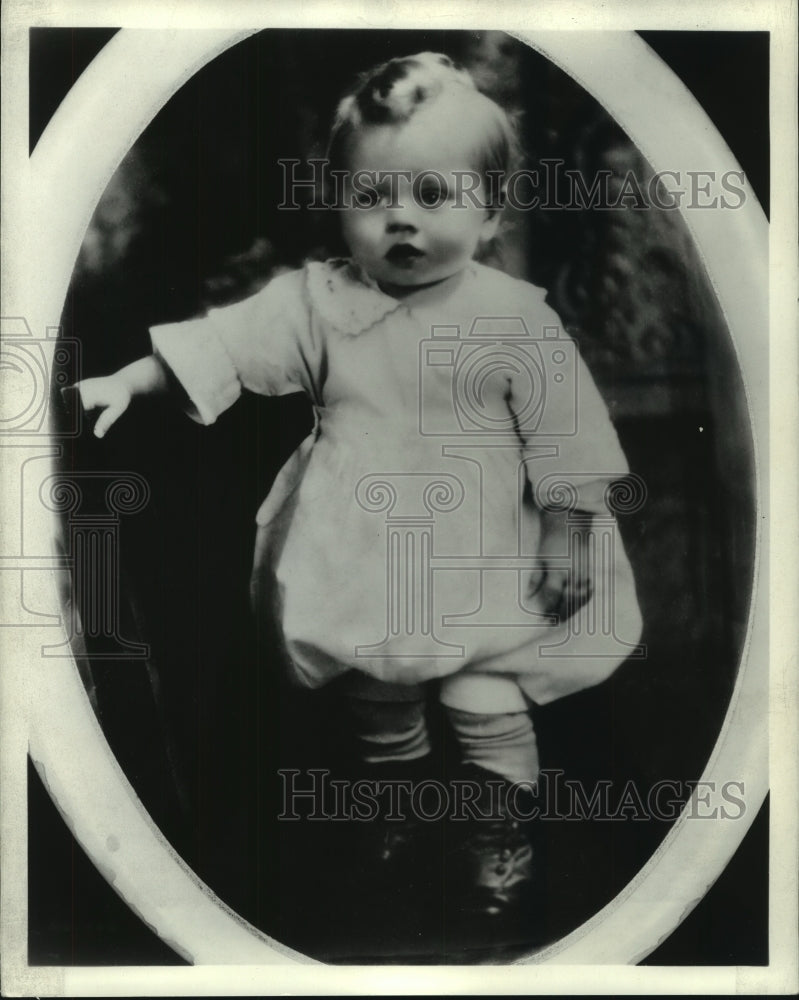
[[[254,33],[123,29],[78,79],[31,158],[31,187],[26,193],[33,225],[25,261],[36,262],[36,273],[28,275],[26,286],[26,301],[35,304],[28,313],[34,331],[52,325],[53,317],[61,315],[94,207],[141,131],[195,72]],[[515,34],[592,94],[654,169],[740,169],[699,104],[633,32]],[[674,114],[675,106],[679,117]],[[100,130],[102,135],[97,135]],[[86,148],[94,151],[88,164],[83,155]],[[59,195],[64,190],[78,192],[78,196],[64,199]],[[768,227],[748,185],[746,194],[736,211],[681,211],[724,313],[745,384],[759,388],[768,385],[764,349]],[[735,252],[741,246],[747,248],[745,254]],[[45,287],[37,285],[42,273],[52,275]],[[762,333],[752,337],[752,330]],[[52,358],[47,361],[49,368]],[[768,482],[767,396],[758,392],[748,404],[755,435],[757,518],[763,525],[764,484]],[[702,775],[703,781],[717,785],[743,781],[745,815],[735,820],[691,822],[683,812],[655,854],[615,899],[526,961],[641,961],[699,902],[749,828],[768,787],[768,658],[761,655],[768,648],[764,550],[761,528],[749,628],[735,690]],[[54,587],[50,601],[59,614]],[[75,836],[131,909],[193,964],[312,962],[231,911],[174,852],[113,757],[74,660],[50,660],[43,665],[39,648],[34,641],[25,643],[24,652],[20,650],[27,660],[31,756]]]

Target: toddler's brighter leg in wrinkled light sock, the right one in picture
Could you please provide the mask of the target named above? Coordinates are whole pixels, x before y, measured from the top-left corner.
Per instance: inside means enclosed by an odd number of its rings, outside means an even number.
[[[453,674],[441,682],[441,702],[463,763],[511,782],[535,782],[538,748],[524,695],[501,674]]]

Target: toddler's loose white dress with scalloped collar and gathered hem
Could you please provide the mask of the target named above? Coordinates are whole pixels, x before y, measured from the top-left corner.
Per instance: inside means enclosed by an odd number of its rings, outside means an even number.
[[[472,263],[398,301],[332,260],[151,333],[203,423],[242,388],[313,403],[313,433],[258,511],[253,571],[300,683],[501,673],[543,703],[634,652],[638,605],[606,501],[627,464],[541,289]],[[530,586],[540,506],[564,497],[599,516],[610,553],[571,624]]]

